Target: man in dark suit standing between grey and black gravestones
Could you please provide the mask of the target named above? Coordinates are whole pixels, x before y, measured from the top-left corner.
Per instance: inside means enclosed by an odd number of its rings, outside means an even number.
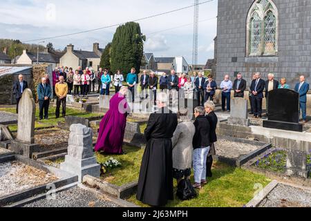
[[[260,73],[256,73],[255,78],[250,87],[250,90],[252,90],[254,117],[261,118],[263,113],[263,90],[265,90],[265,81],[261,79]]]

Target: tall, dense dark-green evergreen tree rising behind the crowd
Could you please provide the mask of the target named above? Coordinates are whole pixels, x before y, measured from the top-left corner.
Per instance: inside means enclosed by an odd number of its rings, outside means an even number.
[[[120,69],[124,74],[131,68],[140,71],[144,51],[144,41],[140,24],[128,22],[117,28],[111,44],[111,70],[113,73]]]

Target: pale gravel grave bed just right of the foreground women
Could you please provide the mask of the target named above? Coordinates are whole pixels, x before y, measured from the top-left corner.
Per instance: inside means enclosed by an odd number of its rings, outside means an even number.
[[[236,159],[256,151],[260,146],[220,139],[215,143],[216,155]]]

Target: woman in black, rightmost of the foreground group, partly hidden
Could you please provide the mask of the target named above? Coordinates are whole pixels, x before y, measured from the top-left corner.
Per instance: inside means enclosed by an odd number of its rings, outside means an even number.
[[[209,125],[211,126],[211,131],[209,133],[209,141],[211,142],[211,148],[209,149],[209,154],[207,155],[206,161],[206,176],[211,177],[211,166],[213,165],[213,155],[216,155],[215,145],[217,142],[216,128],[218,123],[218,118],[214,113],[215,104],[214,102],[206,102],[204,104],[205,111],[207,113],[206,117],[209,120]]]

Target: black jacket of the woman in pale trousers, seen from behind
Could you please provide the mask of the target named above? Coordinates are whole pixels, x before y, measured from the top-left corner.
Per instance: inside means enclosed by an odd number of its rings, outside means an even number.
[[[194,140],[192,141],[194,149],[211,145],[211,126],[209,125],[209,120],[207,119],[207,117],[203,115],[196,117],[194,126],[196,127],[196,133],[194,134]]]

